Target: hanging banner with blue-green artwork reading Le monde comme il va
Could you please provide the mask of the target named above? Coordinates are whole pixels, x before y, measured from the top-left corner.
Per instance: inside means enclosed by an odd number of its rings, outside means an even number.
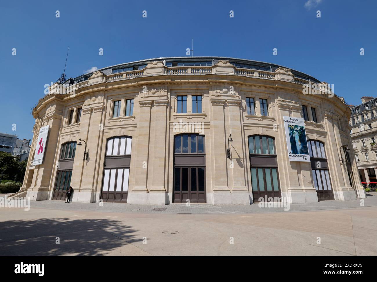
[[[310,162],[304,119],[283,116],[283,120],[289,160]]]

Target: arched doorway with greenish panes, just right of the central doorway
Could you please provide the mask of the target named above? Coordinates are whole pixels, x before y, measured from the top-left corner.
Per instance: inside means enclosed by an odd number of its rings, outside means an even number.
[[[280,198],[275,140],[267,135],[248,136],[253,202],[259,198]]]

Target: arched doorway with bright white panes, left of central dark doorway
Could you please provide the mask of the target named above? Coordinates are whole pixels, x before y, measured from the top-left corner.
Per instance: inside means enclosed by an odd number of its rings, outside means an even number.
[[[130,136],[107,139],[101,190],[101,199],[104,202],[127,202],[131,146]]]

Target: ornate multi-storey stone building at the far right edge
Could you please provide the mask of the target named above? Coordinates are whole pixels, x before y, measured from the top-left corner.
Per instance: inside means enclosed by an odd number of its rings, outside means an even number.
[[[377,98],[362,97],[362,104],[349,105],[352,147],[363,182],[377,182]]]

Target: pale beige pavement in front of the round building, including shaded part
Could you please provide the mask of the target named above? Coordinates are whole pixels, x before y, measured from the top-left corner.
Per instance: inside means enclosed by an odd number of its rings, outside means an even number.
[[[372,202],[332,210],[192,214],[34,205],[43,202],[55,201],[32,202],[29,211],[0,209],[2,256],[377,255]]]

